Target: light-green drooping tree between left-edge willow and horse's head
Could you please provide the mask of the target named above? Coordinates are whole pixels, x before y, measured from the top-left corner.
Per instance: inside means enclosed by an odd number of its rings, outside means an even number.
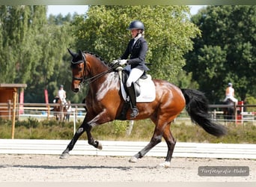
[[[70,16],[70,15],[67,15]],[[56,16],[58,20],[60,16]],[[42,54],[36,69],[31,73],[34,77],[28,83],[27,102],[32,102],[37,96],[38,102],[44,102],[43,90],[47,89],[49,93],[49,102],[52,102],[57,95],[59,85],[64,85],[67,91],[67,98],[71,102],[79,102],[78,96],[70,90],[72,81],[70,72],[70,55],[67,47],[72,46],[73,37],[70,26],[70,18],[65,21],[66,17],[61,18],[61,22],[46,24],[41,32],[37,34],[37,43],[40,46]]]

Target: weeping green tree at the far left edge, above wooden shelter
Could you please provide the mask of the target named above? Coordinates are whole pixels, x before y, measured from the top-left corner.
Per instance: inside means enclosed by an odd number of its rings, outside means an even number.
[[[41,55],[34,38],[46,21],[45,15],[43,6],[1,6],[1,82],[31,79]]]

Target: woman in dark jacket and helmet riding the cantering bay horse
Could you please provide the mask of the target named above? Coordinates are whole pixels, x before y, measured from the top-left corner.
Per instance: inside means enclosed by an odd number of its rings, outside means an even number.
[[[147,54],[147,41],[144,40],[144,24],[138,20],[132,21],[127,28],[132,34],[132,39],[129,40],[127,49],[121,58],[118,59],[119,64],[130,65],[130,73],[127,79],[127,91],[132,112],[130,116],[135,118],[138,115],[138,108],[136,107],[136,95],[134,82],[136,82],[145,71],[149,70],[144,64]],[[127,59],[129,56],[129,59]]]

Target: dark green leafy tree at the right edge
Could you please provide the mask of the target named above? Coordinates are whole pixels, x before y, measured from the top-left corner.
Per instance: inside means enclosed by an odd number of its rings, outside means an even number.
[[[232,82],[238,99],[256,91],[256,6],[207,6],[192,22],[201,29],[184,70],[192,72],[210,102],[225,97]]]

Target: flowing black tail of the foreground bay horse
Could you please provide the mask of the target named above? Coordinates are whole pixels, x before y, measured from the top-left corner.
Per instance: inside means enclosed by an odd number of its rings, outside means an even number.
[[[215,136],[227,133],[225,126],[214,123],[208,114],[208,100],[201,91],[181,89],[186,99],[186,111],[192,121],[201,126],[206,132]]]

